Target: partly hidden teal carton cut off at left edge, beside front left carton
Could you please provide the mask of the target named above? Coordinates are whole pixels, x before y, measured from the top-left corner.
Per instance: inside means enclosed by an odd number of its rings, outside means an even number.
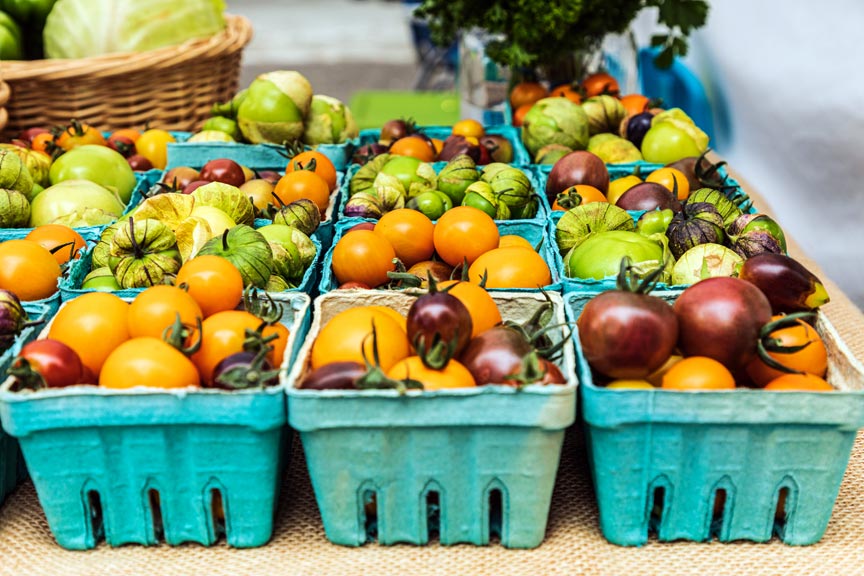
[[[32,320],[47,322],[60,304],[59,294],[39,302],[23,302],[22,306],[27,317]],[[21,331],[12,347],[0,354],[0,373],[6,374],[6,369],[21,352],[25,344],[34,340],[41,331],[41,325],[28,326]],[[2,424],[0,418],[0,424]],[[6,434],[0,427],[0,504],[12,493],[18,482],[26,476],[24,462],[20,458],[18,441]]]

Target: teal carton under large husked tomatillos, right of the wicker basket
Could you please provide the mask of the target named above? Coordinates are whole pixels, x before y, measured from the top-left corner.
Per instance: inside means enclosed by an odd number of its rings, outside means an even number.
[[[239,142],[187,142],[191,132],[177,133],[177,142],[168,144],[167,170],[177,166],[200,167],[214,158],[230,158],[252,170],[284,171],[288,158],[285,147],[278,144],[242,144]],[[359,139],[353,138],[344,144],[321,144],[307,146],[327,156],[336,170],[342,171],[351,163]],[[202,161],[203,160],[203,161]]]

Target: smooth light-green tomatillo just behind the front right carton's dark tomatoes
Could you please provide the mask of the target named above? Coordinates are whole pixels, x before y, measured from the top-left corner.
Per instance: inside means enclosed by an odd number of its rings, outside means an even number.
[[[638,232],[610,230],[592,234],[570,250],[564,257],[565,273],[570,278],[602,280],[618,274],[625,256],[642,272],[664,262],[663,247],[657,242]]]

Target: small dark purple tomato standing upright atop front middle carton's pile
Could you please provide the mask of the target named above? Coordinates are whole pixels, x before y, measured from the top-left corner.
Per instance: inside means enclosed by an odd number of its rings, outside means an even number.
[[[441,362],[435,359],[432,364],[441,367],[465,349],[473,329],[468,309],[461,300],[446,292],[423,294],[408,310],[408,341],[421,356],[432,352],[440,342],[448,350],[448,357]]]

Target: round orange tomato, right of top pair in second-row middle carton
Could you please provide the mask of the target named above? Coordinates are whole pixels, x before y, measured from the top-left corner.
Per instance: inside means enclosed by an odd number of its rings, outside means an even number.
[[[484,252],[498,247],[500,234],[495,221],[477,208],[458,206],[444,213],[432,236],[435,252],[451,266],[474,262]]]

